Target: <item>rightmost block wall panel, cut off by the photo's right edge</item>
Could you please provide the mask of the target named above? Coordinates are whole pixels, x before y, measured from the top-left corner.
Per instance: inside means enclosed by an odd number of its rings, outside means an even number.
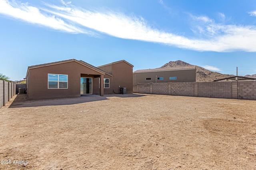
[[[238,99],[256,100],[256,81],[238,81]]]

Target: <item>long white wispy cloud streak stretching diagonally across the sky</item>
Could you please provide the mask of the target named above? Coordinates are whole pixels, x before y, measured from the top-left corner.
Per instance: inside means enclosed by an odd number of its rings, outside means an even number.
[[[68,33],[101,32],[123,39],[163,43],[195,51],[256,51],[256,28],[248,25],[220,25],[207,16],[194,17],[205,38],[188,38],[152,27],[142,17],[108,11],[84,10],[63,0],[62,6],[33,7],[15,0],[0,0],[0,14],[44,25]],[[162,0],[159,1],[160,3]]]

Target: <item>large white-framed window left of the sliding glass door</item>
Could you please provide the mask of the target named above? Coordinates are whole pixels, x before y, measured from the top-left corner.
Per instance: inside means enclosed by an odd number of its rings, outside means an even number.
[[[48,88],[68,88],[68,75],[48,74]]]

